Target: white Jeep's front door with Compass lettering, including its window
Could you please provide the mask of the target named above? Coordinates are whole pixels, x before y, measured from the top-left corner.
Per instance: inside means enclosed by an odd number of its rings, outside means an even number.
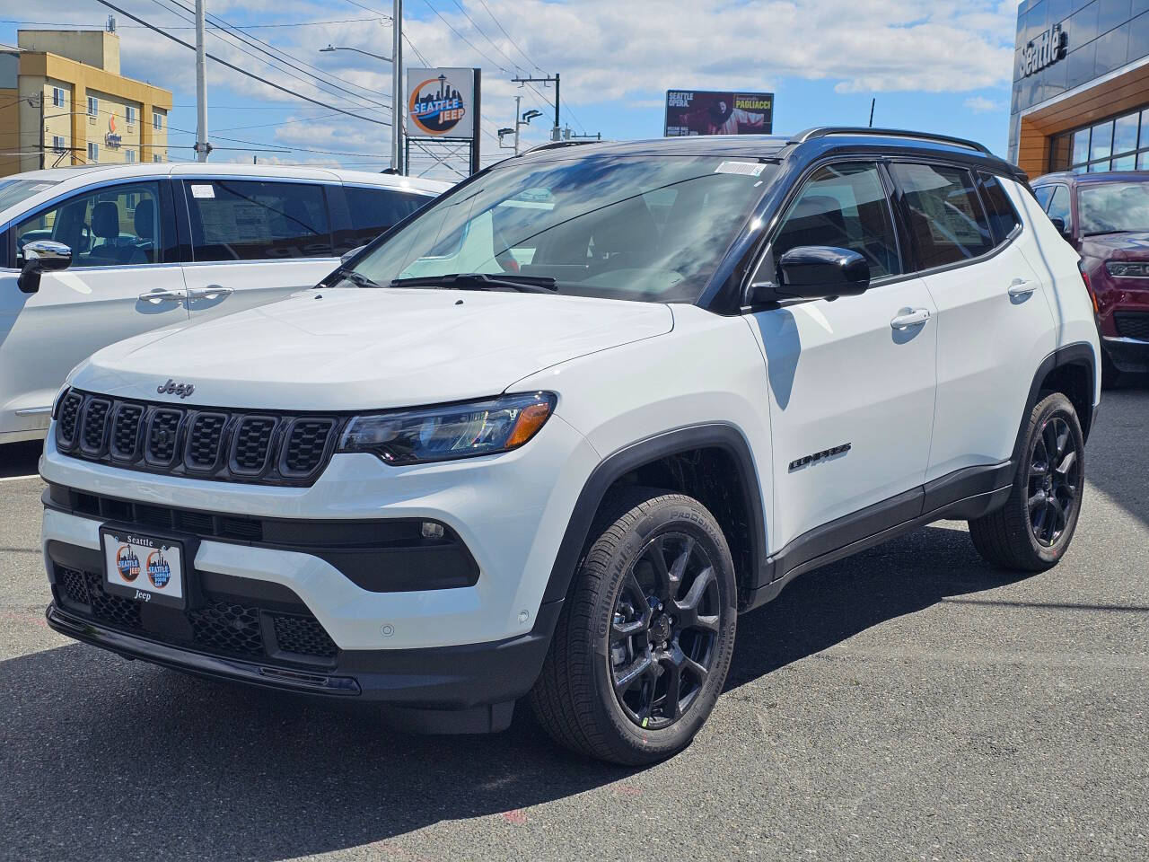
[[[867,506],[879,505],[858,528],[866,534],[916,515],[905,492],[923,484],[933,428],[935,308],[925,284],[903,275],[878,166],[818,168],[764,265],[796,246],[862,253],[872,286],[754,315],[770,382],[772,553]]]

